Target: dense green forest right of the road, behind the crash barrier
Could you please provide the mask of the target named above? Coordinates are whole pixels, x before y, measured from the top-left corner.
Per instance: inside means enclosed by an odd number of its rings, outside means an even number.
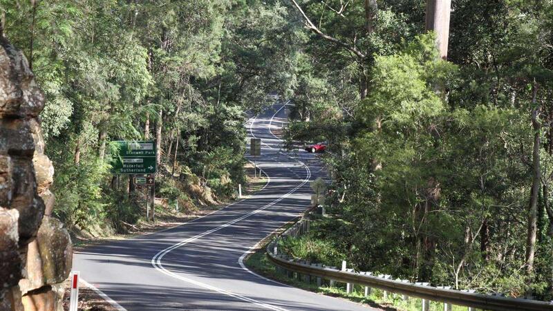
[[[288,141],[328,140],[335,176],[303,251],[553,299],[552,1],[453,0],[447,61],[426,1],[291,2],[310,38]]]

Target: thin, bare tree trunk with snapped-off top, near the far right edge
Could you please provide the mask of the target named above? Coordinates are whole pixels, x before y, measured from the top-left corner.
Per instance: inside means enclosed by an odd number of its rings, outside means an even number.
[[[534,80],[532,86],[532,129],[534,130],[534,149],[532,150],[532,191],[530,191],[530,204],[528,211],[528,236],[526,241],[526,271],[534,270],[534,254],[536,252],[538,194],[541,182],[540,147],[541,124],[539,121],[540,107],[536,103],[538,86]]]

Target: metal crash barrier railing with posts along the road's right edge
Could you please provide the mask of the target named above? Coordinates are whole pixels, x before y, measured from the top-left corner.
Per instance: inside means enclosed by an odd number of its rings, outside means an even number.
[[[482,310],[549,310],[553,311],[553,301],[536,301],[531,299],[518,299],[505,297],[502,294],[478,294],[474,290],[452,290],[447,286],[434,287],[429,283],[411,283],[407,280],[391,279],[389,275],[373,275],[371,272],[356,272],[347,269],[346,262],[342,262],[341,269],[328,267],[321,263],[311,263],[298,258],[292,258],[287,254],[279,253],[279,241],[283,238],[297,238],[301,234],[309,232],[310,220],[308,216],[302,217],[292,227],[288,228],[274,238],[267,245],[269,260],[276,265],[277,270],[293,278],[307,283],[317,282],[321,286],[323,280],[328,280],[330,286],[337,282],[346,283],[346,291],[353,292],[353,285],[364,286],[365,296],[371,294],[372,288],[384,292],[384,299],[389,294],[400,294],[402,299],[409,297],[422,299],[422,311],[429,311],[430,301],[444,303],[444,311],[450,311],[453,305],[465,306],[469,311],[475,308]]]

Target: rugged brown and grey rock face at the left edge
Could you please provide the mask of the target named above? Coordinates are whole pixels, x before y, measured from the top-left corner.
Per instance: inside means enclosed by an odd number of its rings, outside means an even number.
[[[26,58],[0,35],[0,311],[63,310],[73,250],[50,216],[54,168],[44,154],[43,108]]]

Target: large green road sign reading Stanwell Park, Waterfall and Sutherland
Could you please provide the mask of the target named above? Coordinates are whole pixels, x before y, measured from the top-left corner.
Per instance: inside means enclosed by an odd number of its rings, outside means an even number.
[[[111,155],[111,173],[156,173],[156,142],[115,141],[116,153]]]

